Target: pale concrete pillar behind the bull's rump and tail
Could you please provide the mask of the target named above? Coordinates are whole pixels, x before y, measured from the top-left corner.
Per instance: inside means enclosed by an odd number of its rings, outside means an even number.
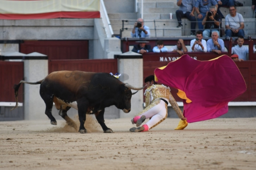
[[[48,60],[24,60],[24,79],[36,82],[48,75]],[[24,119],[47,120],[45,103],[39,94],[40,84],[24,84]]]

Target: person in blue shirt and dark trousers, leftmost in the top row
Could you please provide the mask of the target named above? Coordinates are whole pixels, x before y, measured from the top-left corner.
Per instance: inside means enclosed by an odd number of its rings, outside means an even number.
[[[181,18],[186,17],[191,21],[191,35],[196,35],[196,17],[194,17],[194,5],[196,0],[177,0],[177,5],[180,9],[176,11],[176,17],[178,20],[177,27],[183,27],[181,24]]]

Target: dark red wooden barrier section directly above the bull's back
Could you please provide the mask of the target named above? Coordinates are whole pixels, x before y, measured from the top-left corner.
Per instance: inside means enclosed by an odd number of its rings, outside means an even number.
[[[49,60],[49,73],[53,71],[87,71],[117,73],[117,59]]]

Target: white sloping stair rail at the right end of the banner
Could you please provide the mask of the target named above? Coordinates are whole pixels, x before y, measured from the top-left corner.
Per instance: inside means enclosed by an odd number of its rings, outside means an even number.
[[[104,29],[107,34],[107,38],[111,38],[114,32],[110,24],[109,16],[107,14],[107,10],[105,8],[105,4],[103,0],[100,0],[100,17],[102,18],[102,22],[104,24]]]

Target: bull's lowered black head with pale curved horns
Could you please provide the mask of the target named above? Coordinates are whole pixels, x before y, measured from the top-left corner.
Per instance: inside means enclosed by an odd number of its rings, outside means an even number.
[[[133,87],[130,84],[126,83],[122,99],[120,100],[119,106],[117,108],[122,109],[125,113],[129,113],[131,111],[131,95],[136,94],[139,90],[143,89],[144,87]],[[137,91],[132,93],[131,89]]]

